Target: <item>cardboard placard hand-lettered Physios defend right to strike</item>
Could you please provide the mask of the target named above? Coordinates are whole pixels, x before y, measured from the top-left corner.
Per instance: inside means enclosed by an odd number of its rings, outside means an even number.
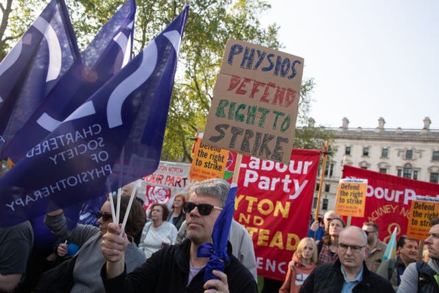
[[[229,39],[203,143],[288,164],[303,59]]]

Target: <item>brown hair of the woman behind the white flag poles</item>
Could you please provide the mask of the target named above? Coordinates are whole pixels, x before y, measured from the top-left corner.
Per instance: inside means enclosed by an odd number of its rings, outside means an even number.
[[[109,199],[108,199],[109,200]],[[117,204],[117,196],[112,196],[112,201]],[[128,202],[130,202],[130,196],[121,196],[121,210],[119,215],[119,224],[123,222],[123,218],[125,218],[125,211],[128,207]],[[126,235],[130,235],[134,237],[140,231],[142,231],[143,226],[146,223],[146,214],[143,210],[142,205],[137,200],[132,201],[130,214],[128,215],[128,219],[126,221],[125,233]]]

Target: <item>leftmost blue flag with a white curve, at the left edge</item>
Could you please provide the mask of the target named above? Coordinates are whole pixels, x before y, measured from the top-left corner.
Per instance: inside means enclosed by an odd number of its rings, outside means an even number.
[[[64,0],[52,0],[0,63],[0,154],[78,57]]]

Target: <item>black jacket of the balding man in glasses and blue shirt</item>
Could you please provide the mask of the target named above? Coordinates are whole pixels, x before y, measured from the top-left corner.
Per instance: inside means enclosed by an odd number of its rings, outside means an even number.
[[[342,264],[337,259],[335,263],[322,264],[315,268],[307,277],[300,288],[300,293],[340,293],[342,292],[344,277],[341,270]],[[363,292],[395,292],[389,281],[370,272],[363,262],[363,279],[353,288],[354,293]]]

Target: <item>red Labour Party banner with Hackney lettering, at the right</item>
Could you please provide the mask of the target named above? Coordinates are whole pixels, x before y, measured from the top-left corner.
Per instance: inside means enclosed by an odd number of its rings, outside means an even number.
[[[379,238],[388,243],[394,228],[396,239],[406,235],[410,205],[416,196],[439,196],[439,185],[403,177],[344,166],[344,178],[366,178],[366,207],[364,218],[353,217],[351,225],[361,227],[364,222],[379,226]],[[431,220],[431,219],[426,219]]]

